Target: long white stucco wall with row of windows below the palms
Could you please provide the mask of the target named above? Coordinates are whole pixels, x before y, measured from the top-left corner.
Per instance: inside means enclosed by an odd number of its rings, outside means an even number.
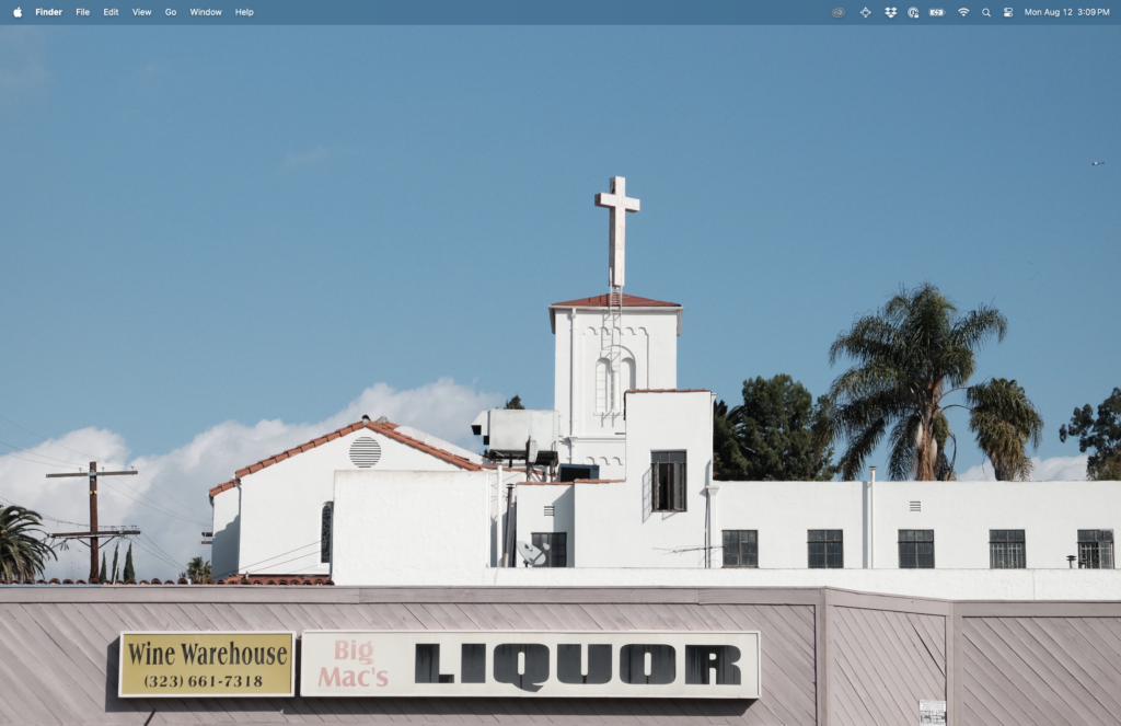
[[[863,481],[721,481],[713,543],[722,530],[757,530],[759,567],[796,569],[807,567],[807,530],[844,530],[846,569],[872,567],[873,542],[876,569],[897,569],[899,530],[934,530],[936,569],[988,570],[989,530],[1023,530],[1027,567],[1060,569],[1078,530],[1121,533],[1121,486],[1106,481],[878,481],[871,522],[868,507]]]

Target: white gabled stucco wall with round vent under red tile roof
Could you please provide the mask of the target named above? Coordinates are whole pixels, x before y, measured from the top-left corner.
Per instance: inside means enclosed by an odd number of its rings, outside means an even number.
[[[360,436],[374,439],[381,445],[381,459],[368,471],[461,471],[455,465],[418,449],[360,429],[247,475],[241,478],[238,572],[327,575],[331,571],[328,563],[319,562],[321,514],[323,505],[333,500],[335,471],[362,471],[350,460],[351,443]]]

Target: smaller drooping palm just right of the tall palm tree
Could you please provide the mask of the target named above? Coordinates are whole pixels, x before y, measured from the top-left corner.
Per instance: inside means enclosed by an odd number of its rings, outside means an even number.
[[[1038,449],[1044,435],[1044,419],[1015,380],[994,378],[970,386],[970,429],[978,445],[992,461],[999,481],[1023,481],[1035,465],[1025,448]]]

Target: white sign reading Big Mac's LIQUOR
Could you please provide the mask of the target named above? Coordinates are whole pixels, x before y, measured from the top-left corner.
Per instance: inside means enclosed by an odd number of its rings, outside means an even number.
[[[759,698],[757,631],[305,631],[300,695]]]

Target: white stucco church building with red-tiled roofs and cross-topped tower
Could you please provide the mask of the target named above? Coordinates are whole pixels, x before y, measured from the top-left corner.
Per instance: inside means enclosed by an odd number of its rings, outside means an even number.
[[[595,203],[609,292],[549,305],[553,411],[483,412],[492,459],[363,417],[247,466],[210,490],[215,578],[1121,599],[1117,483],[716,481],[683,307],[622,292],[639,202],[615,177]]]

